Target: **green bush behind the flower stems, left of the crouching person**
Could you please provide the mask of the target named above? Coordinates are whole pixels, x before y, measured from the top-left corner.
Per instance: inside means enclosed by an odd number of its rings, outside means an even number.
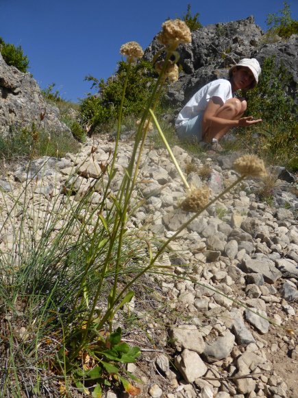
[[[127,76],[127,90],[123,103],[123,116],[134,115],[139,117],[145,109],[147,101],[153,89],[156,74],[150,62],[140,60],[134,65],[119,62],[116,74],[108,78],[98,80],[87,76],[86,80],[92,82],[91,89],[96,87],[97,95],[88,95],[82,100],[80,106],[80,119],[82,124],[91,125],[92,130],[100,124],[107,123],[110,119],[116,119],[121,105],[123,81]]]

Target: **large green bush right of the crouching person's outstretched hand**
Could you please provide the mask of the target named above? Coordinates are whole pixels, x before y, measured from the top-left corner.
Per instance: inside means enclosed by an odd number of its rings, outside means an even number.
[[[297,169],[298,138],[297,107],[288,93],[290,75],[282,63],[277,65],[274,57],[266,58],[262,73],[255,89],[242,93],[247,99],[247,115],[262,119],[262,124],[253,126],[245,132],[251,149],[266,156],[269,161],[284,163]],[[258,142],[256,136],[258,134]]]

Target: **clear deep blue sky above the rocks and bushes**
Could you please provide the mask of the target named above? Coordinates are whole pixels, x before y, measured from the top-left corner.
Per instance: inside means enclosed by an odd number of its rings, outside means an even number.
[[[262,30],[266,16],[283,8],[282,0],[0,0],[0,36],[21,45],[42,89],[55,83],[65,100],[77,102],[90,92],[86,75],[107,79],[123,43],[135,40],[145,49],[162,23],[185,14],[188,3],[203,25],[253,15]],[[288,3],[298,19],[298,0]]]

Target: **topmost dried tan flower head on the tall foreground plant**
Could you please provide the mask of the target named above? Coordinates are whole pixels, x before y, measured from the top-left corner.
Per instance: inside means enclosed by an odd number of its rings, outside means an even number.
[[[181,19],[169,19],[162,24],[162,31],[158,34],[158,41],[171,49],[180,43],[191,43],[189,27]]]

